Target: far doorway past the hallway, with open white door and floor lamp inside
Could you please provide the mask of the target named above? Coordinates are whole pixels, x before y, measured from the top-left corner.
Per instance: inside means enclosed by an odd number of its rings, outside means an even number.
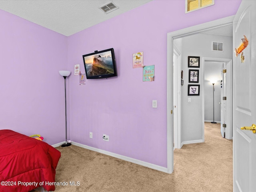
[[[220,123],[220,131],[222,133],[222,137],[231,140],[233,138],[232,136],[232,59],[226,59],[226,58],[203,58],[203,63],[205,66],[205,75],[204,76],[204,90],[206,92],[206,86],[209,84],[211,79],[217,80],[214,84],[214,94],[218,92],[219,98],[216,98],[217,95],[214,95],[214,109],[217,106],[218,112],[217,113],[217,122]],[[208,70],[211,70],[213,73],[206,74],[206,66],[207,64],[213,64],[218,65],[217,70],[214,71],[213,68],[209,68]],[[217,86],[217,87],[216,87]],[[211,89],[212,89],[211,85]],[[210,106],[207,105],[207,102],[209,104],[209,100],[206,100],[207,97],[211,97],[212,99],[212,92],[210,95],[205,94],[204,99],[204,114],[207,113],[208,109],[213,110],[213,103],[210,103]],[[217,97],[218,97],[217,96]],[[217,100],[216,100],[217,99]],[[219,99],[219,100],[218,100]],[[216,115],[216,113],[214,113]],[[213,115],[213,114],[212,114]],[[208,116],[205,116],[204,120],[206,122],[212,122]],[[216,121],[216,119],[214,119]]]

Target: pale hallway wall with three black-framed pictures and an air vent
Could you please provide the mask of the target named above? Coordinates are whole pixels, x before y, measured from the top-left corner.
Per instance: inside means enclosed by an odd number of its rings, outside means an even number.
[[[212,41],[223,42],[224,51],[212,51]],[[184,85],[181,88],[181,141],[190,142],[203,138],[203,109],[202,93],[204,92],[202,58],[232,59],[232,37],[196,34],[182,39],[182,69]],[[188,68],[188,56],[200,56],[200,68]],[[200,96],[188,96],[188,70],[199,69]],[[191,84],[191,83],[190,83]],[[217,85],[216,85],[217,86]],[[208,91],[208,90],[206,90]],[[211,89],[212,92],[212,89]],[[188,103],[191,98],[191,103]]]

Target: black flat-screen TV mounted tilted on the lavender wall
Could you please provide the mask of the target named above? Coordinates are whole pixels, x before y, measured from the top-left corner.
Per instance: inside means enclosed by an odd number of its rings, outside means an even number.
[[[114,49],[95,51],[83,55],[87,79],[99,79],[117,76]]]

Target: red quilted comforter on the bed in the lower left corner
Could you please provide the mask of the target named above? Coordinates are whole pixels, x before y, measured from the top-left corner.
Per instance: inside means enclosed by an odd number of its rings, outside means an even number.
[[[0,192],[28,192],[40,185],[55,190],[60,152],[46,142],[0,130]]]

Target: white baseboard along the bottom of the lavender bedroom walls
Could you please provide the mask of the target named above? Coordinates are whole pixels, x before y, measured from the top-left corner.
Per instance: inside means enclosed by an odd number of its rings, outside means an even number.
[[[62,143],[64,143],[64,142],[62,142]],[[55,144],[55,145],[52,145],[52,146],[60,146],[62,143],[58,143],[58,144]],[[135,163],[135,164],[138,164],[138,165],[142,165],[142,166],[154,169],[154,170],[158,170],[158,171],[162,171],[162,172],[167,173],[167,168],[166,167],[158,166],[158,165],[155,165],[155,164],[152,164],[152,163],[144,162],[144,161],[137,160],[137,159],[134,159],[134,158],[130,158],[130,157],[126,157],[126,156],[123,156],[123,155],[108,152],[108,151],[105,151],[105,150],[101,150],[101,149],[98,149],[98,148],[90,147],[90,146],[80,144],[80,143],[77,143],[77,142],[72,142],[72,145],[82,147],[82,148],[85,148],[85,149],[88,149],[88,150],[92,150],[92,151],[95,151],[95,152],[99,152],[99,153],[102,153],[102,154],[105,154],[105,155],[108,155],[108,156],[112,156],[112,157],[115,157],[115,158],[118,158],[118,159],[122,159],[122,160],[125,160],[125,161],[128,161],[128,162],[132,162],[132,163]]]

